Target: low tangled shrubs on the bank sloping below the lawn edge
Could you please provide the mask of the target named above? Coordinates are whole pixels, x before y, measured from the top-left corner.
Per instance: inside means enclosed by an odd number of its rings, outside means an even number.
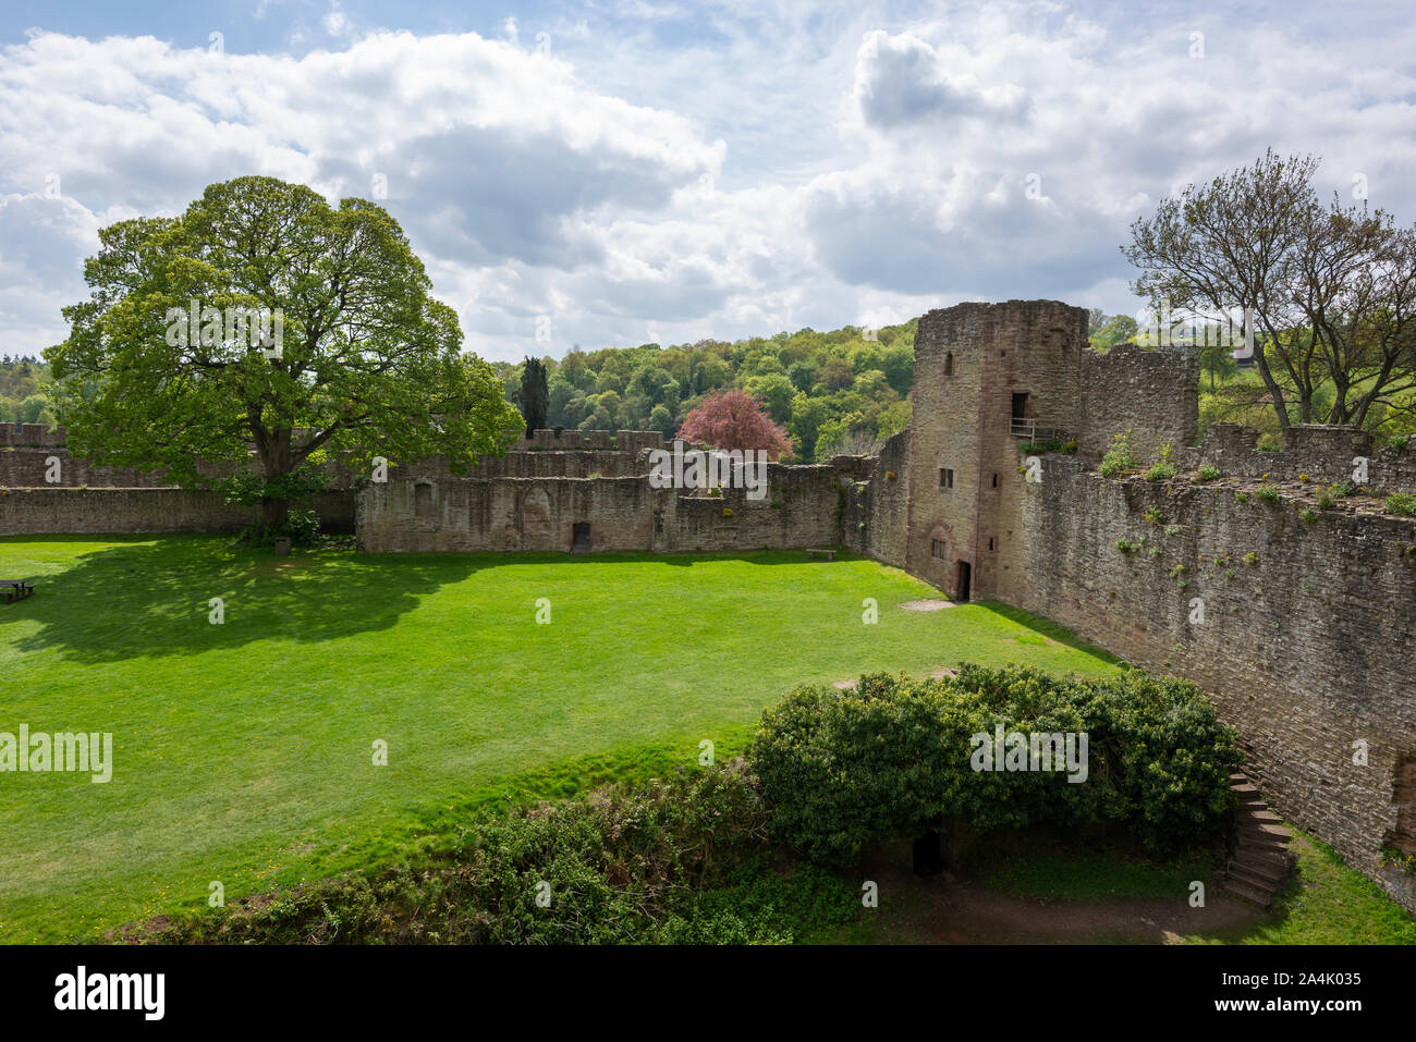
[[[344,876],[139,923],[160,943],[790,943],[844,923],[855,892],[767,861],[741,762],[472,821],[428,864]],[[549,903],[538,903],[548,885]]]

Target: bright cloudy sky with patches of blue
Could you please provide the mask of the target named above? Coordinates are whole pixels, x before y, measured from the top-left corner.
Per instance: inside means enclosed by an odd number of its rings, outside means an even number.
[[[1127,225],[1267,146],[1416,221],[1410,0],[4,13],[0,353],[62,338],[98,228],[241,174],[379,200],[506,360],[959,300],[1136,313]]]

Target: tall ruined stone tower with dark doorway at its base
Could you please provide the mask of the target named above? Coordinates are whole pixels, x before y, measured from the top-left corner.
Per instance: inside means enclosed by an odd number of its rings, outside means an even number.
[[[1020,603],[1020,446],[1075,437],[1087,313],[1055,300],[957,304],[915,333],[905,569],[956,600]]]

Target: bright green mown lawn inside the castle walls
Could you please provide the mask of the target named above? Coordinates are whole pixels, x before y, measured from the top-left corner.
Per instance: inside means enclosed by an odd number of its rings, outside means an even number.
[[[275,558],[208,537],[0,538],[0,573],[38,590],[0,605],[0,731],[115,743],[108,784],[0,774],[0,940],[91,937],[197,908],[212,881],[231,900],[396,858],[474,804],[690,763],[702,739],[728,756],[806,681],[963,658],[1114,668],[1017,612],[905,612],[939,593],[875,562],[801,556]]]

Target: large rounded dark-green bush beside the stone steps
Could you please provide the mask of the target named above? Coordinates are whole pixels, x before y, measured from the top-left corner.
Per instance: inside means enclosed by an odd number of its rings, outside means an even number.
[[[971,738],[1085,732],[1085,783],[1062,772],[974,770]],[[1124,823],[1147,848],[1211,838],[1231,807],[1235,733],[1194,685],[1140,671],[1089,681],[964,665],[957,678],[862,677],[804,687],[763,714],[748,752],[775,835],[826,864],[940,820],[976,831]]]

